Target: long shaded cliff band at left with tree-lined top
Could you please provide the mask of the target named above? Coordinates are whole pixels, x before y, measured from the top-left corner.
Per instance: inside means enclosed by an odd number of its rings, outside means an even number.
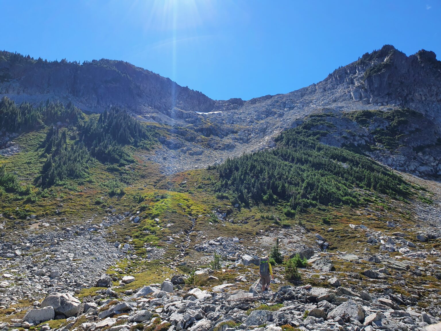
[[[2,52],[0,82],[0,94],[17,101],[61,99],[92,111],[119,105],[137,113],[174,107],[206,112],[214,106],[198,91],[123,61],[103,59],[80,65]]]

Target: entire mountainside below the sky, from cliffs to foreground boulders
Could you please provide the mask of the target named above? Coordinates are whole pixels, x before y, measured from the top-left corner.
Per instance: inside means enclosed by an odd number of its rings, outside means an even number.
[[[212,104],[182,88],[169,109],[176,86],[129,64],[14,56],[1,76],[18,101],[0,101],[1,330],[440,320],[441,185],[372,160],[441,170],[438,62],[385,46],[289,94]],[[284,262],[269,293],[256,291],[255,255]],[[54,292],[69,293],[68,312]]]

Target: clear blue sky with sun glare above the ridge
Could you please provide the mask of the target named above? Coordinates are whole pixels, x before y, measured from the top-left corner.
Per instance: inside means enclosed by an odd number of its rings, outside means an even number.
[[[287,93],[384,44],[441,58],[439,0],[2,0],[0,12],[0,49],[125,60],[213,99]]]

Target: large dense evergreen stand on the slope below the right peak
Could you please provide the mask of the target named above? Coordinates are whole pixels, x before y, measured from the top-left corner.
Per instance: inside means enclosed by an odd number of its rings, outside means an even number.
[[[318,121],[315,119],[314,121]],[[292,210],[322,205],[363,203],[356,187],[389,196],[407,196],[409,186],[364,155],[318,142],[305,123],[281,134],[278,147],[227,159],[217,166],[217,192],[233,203],[289,202]],[[331,124],[329,124],[331,125]]]

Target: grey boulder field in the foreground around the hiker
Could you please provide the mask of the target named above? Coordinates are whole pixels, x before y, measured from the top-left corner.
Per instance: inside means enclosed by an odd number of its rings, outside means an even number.
[[[124,290],[137,273],[126,269],[120,270],[120,276],[105,275],[119,270],[115,265],[120,260],[145,259],[131,252],[130,244],[111,242],[114,226],[125,220],[135,222],[128,212],[112,210],[101,223],[92,218],[60,229],[50,221],[36,220],[37,226],[19,236],[2,233],[0,308],[9,309],[10,315],[0,329],[38,325],[48,331],[54,325],[50,320],[55,319],[60,321],[55,327],[60,331],[425,330],[441,321],[441,293],[422,279],[441,279],[441,252],[427,244],[440,236],[441,191],[436,182],[414,180],[429,183],[436,193],[433,205],[418,207],[421,222],[412,229],[390,222],[392,234],[350,224],[348,231],[359,237],[355,253],[327,252],[326,231],[305,233],[302,228],[262,233],[251,245],[238,237],[210,238],[203,233],[192,243],[187,234],[182,249],[193,256],[191,262],[199,259],[203,264],[213,252],[222,256],[221,270],[198,268],[196,277],[237,274],[235,282],[224,281],[206,290],[188,286],[190,275],[179,274],[176,266],[185,264],[179,262],[180,255],[165,262],[172,273],[162,283]],[[222,214],[218,217],[229,222]],[[41,231],[45,227],[51,230]],[[182,239],[183,233],[178,235]],[[303,283],[298,286],[283,285],[280,267],[274,267],[274,289],[261,292],[254,282],[256,254],[268,254],[276,236],[281,238],[282,253],[299,252],[309,259],[309,267],[302,270]],[[160,250],[147,251],[147,260],[162,258]],[[311,286],[308,280],[313,279],[326,286]],[[421,279],[418,286],[413,285],[414,279]],[[91,296],[80,295],[93,286],[98,287]],[[407,294],[393,290],[396,286]],[[33,306],[19,305],[23,299]]]

